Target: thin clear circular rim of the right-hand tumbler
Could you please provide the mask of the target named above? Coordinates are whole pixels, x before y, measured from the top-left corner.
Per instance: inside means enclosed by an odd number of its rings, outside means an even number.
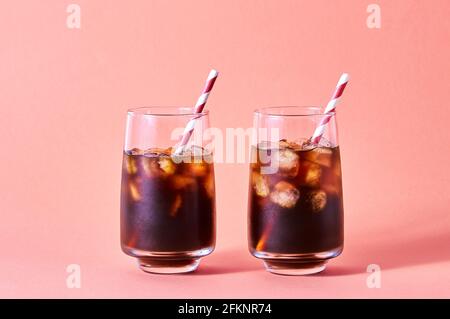
[[[280,111],[287,110],[281,113]],[[313,111],[316,111],[313,113]],[[276,105],[263,106],[253,111],[256,115],[274,117],[312,117],[312,116],[333,116],[336,112],[324,113],[320,106],[313,105]]]

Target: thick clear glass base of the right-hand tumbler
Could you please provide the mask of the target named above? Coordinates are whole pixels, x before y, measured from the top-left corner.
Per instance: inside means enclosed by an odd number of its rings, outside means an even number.
[[[325,269],[326,263],[326,260],[317,262],[264,260],[264,266],[267,271],[287,276],[317,274]]]

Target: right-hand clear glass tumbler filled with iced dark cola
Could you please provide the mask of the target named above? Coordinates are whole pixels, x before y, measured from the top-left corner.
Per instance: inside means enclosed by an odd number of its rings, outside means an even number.
[[[331,116],[318,144],[309,142]],[[268,271],[325,269],[343,248],[341,162],[334,113],[318,107],[267,107],[254,113],[249,249]]]

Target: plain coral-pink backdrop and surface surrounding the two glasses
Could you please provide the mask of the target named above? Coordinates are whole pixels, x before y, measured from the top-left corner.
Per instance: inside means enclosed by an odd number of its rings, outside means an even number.
[[[449,1],[376,1],[381,29],[362,0],[78,0],[79,30],[69,3],[0,5],[0,297],[450,297]],[[244,164],[217,165],[217,248],[198,273],[148,275],[120,251],[126,109],[193,104],[211,67],[219,128],[324,104],[350,73],[346,247],[326,272],[275,276],[250,256]]]

